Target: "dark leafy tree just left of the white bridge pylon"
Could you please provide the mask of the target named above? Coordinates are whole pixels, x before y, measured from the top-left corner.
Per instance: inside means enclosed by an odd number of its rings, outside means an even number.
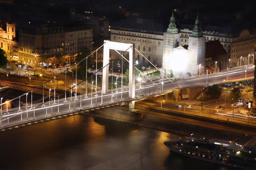
[[[76,60],[77,62],[83,60],[84,58],[86,58],[89,54],[90,54],[90,50],[86,47],[84,47],[82,49],[82,51],[80,53],[78,53]],[[92,55],[90,57],[87,58],[87,69],[88,68],[92,68],[92,64],[94,62],[94,59],[92,58]],[[76,67],[73,67],[73,70],[76,70]],[[77,76],[78,77],[85,77],[86,75],[86,59],[83,60],[81,63],[78,64],[77,66]]]

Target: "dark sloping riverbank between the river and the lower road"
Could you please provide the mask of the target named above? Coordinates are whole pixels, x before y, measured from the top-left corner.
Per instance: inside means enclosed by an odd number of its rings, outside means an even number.
[[[242,133],[223,131],[223,130],[213,129],[209,127],[173,121],[167,117],[147,114],[143,112],[142,112],[143,118],[137,121],[118,119],[112,116],[102,115],[96,112],[88,112],[88,113],[84,113],[83,115],[93,117],[94,119],[110,119],[113,121],[125,122],[125,123],[146,127],[146,128],[150,128],[158,131],[164,131],[164,132],[168,132],[171,134],[184,136],[184,137],[189,137],[191,133],[194,133],[193,137],[195,138],[218,138],[218,139],[233,141],[241,145],[244,145],[249,140],[256,141],[256,138],[254,138],[253,136],[247,136]],[[253,142],[253,145],[255,145],[254,143],[255,142]]]

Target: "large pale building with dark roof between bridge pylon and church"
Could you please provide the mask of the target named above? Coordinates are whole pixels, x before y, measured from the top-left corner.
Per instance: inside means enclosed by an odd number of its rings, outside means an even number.
[[[163,28],[153,20],[142,18],[128,18],[121,24],[111,26],[111,41],[134,43],[135,58],[141,65],[149,65],[144,55],[156,66],[162,66],[163,60]],[[142,55],[141,55],[142,54]],[[118,54],[112,54],[118,56]]]

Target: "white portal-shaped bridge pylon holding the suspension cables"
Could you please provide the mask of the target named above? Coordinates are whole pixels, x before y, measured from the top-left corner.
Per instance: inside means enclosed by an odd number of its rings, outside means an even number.
[[[102,93],[108,92],[108,63],[109,63],[109,50],[127,51],[129,52],[129,98],[135,97],[135,47],[134,44],[126,44],[120,42],[113,42],[104,40],[103,50],[103,68],[102,71]],[[129,102],[129,108],[134,109],[134,101]]]

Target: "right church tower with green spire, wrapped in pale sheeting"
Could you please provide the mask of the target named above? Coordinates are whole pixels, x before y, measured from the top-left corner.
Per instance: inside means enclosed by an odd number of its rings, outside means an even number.
[[[188,38],[189,63],[191,74],[204,73],[205,63],[205,37],[201,31],[198,14],[191,37]]]

